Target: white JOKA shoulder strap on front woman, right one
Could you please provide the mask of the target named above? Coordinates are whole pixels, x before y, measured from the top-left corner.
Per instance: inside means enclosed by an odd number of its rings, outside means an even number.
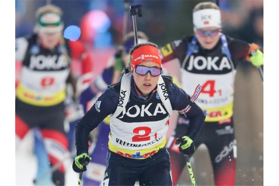
[[[167,91],[167,87],[165,85],[165,82],[164,82],[162,76],[160,76],[160,78],[158,80],[157,87],[158,87],[157,88],[158,95],[159,95],[161,101],[163,102],[163,105],[167,109],[169,115],[171,116],[172,115],[172,105],[170,104],[169,93]]]

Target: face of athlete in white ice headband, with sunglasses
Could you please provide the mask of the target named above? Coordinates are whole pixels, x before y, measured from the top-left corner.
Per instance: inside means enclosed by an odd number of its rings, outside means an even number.
[[[215,47],[215,45],[218,43],[220,38],[220,31],[221,30],[216,27],[206,27],[195,30],[195,33],[201,46],[203,46],[205,49],[210,50],[213,49],[213,47]]]

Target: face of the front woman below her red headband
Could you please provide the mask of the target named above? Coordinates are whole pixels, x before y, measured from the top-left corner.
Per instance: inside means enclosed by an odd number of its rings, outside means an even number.
[[[140,66],[146,67],[160,67],[157,63],[154,62],[144,62]],[[136,69],[133,69],[132,75],[134,76],[134,81],[136,86],[140,90],[141,95],[148,96],[149,93],[156,87],[158,79],[160,76],[151,76],[150,72],[146,75],[140,75],[135,72]]]

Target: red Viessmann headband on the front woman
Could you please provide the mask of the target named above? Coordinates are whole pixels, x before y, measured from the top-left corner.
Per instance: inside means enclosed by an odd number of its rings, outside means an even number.
[[[131,64],[139,65],[144,62],[154,62],[162,67],[160,52],[156,47],[143,45],[134,50],[131,55]]]

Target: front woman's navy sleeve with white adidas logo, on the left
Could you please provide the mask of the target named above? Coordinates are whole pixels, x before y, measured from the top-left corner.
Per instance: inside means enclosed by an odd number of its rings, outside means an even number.
[[[107,89],[90,108],[90,110],[76,124],[76,153],[88,153],[88,136],[102,120],[115,112],[118,97],[112,88]]]

